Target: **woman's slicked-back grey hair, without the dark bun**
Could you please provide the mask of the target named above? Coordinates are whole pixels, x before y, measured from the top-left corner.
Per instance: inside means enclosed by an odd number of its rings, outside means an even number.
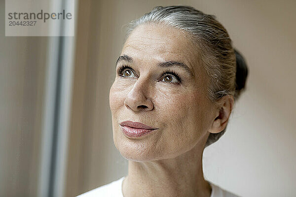
[[[190,6],[158,6],[130,22],[126,37],[137,26],[149,23],[177,28],[193,40],[199,53],[199,64],[209,76],[210,101],[217,102],[224,95],[238,98],[240,89],[236,84],[236,53],[227,31],[215,16],[204,14]],[[210,133],[205,146],[216,142],[225,129],[219,133]]]

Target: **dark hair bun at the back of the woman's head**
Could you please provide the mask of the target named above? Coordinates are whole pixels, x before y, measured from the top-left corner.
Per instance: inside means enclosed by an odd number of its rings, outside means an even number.
[[[236,99],[239,97],[241,91],[245,88],[247,76],[248,76],[248,66],[244,57],[234,49],[235,58],[236,58],[236,74],[235,74],[235,83],[236,83]]]

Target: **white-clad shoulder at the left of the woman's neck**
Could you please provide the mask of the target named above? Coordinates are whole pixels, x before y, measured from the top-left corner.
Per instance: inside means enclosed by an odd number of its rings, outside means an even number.
[[[107,185],[95,188],[76,197],[123,197],[121,185],[124,178],[125,176]]]

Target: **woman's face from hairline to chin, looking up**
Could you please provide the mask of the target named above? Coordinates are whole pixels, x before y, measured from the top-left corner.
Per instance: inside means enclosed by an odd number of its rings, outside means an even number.
[[[113,140],[124,158],[169,159],[205,143],[214,105],[194,51],[185,33],[159,24],[140,25],[126,40],[110,89]]]

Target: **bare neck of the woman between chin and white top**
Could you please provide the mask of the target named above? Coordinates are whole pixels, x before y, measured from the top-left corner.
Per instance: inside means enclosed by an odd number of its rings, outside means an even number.
[[[123,181],[124,197],[210,197],[211,186],[204,180],[204,144],[173,159],[128,163]]]

